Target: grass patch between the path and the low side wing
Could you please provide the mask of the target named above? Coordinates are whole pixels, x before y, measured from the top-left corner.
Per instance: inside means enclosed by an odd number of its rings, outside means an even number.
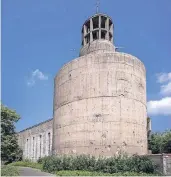
[[[13,162],[13,163],[9,164],[8,166],[31,167],[31,168],[36,168],[36,169],[42,170],[42,164],[39,164],[36,162],[30,162],[30,161]]]

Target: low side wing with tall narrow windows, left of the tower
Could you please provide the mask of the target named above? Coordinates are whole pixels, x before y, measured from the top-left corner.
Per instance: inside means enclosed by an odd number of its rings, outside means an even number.
[[[18,133],[18,142],[23,150],[23,158],[36,161],[48,156],[52,151],[53,119],[27,128]]]

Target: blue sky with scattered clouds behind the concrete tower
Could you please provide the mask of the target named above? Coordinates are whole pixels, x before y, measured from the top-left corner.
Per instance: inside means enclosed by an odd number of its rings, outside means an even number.
[[[95,3],[2,0],[2,102],[21,115],[18,131],[52,117],[54,76],[78,57],[81,26]],[[170,0],[100,2],[113,19],[114,43],[146,66],[153,131],[171,128],[170,7]]]

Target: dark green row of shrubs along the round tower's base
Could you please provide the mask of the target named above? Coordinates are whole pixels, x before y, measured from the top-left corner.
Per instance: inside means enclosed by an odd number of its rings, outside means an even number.
[[[50,156],[40,160],[43,170],[54,173],[62,170],[83,170],[102,173],[154,173],[155,164],[145,156],[118,156],[98,158],[93,156]]]

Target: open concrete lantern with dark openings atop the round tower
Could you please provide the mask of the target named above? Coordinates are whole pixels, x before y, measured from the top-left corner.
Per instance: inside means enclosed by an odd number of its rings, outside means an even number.
[[[105,14],[95,14],[82,26],[82,48],[80,56],[97,50],[114,51],[113,22]]]

